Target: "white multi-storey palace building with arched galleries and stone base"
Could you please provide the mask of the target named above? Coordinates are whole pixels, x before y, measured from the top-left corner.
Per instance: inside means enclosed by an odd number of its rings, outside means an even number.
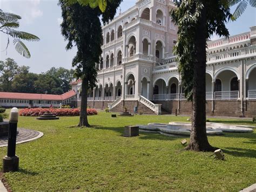
[[[191,114],[172,54],[173,8],[168,0],[140,0],[103,26],[103,61],[97,65],[97,87],[89,93],[90,107]],[[207,43],[207,115],[256,116],[256,26]],[[78,105],[80,86],[72,83]]]

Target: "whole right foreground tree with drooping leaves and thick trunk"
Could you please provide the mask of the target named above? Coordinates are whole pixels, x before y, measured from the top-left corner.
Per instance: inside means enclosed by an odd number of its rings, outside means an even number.
[[[206,40],[215,32],[228,37],[225,26],[231,18],[226,0],[177,1],[171,12],[178,25],[178,41],[174,47],[185,95],[192,100],[192,127],[190,143],[186,149],[212,151],[206,135]]]

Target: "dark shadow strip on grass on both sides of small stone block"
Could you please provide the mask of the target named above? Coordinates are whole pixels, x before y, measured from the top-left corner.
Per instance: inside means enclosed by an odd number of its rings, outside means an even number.
[[[120,134],[120,136],[123,137],[124,134],[124,127],[104,127],[104,126],[95,126],[95,129],[103,129],[103,130],[109,130],[114,131]],[[187,135],[180,135],[180,136],[166,136],[160,133],[155,132],[139,132],[139,139],[150,139],[150,140],[176,140],[181,138],[189,138]]]

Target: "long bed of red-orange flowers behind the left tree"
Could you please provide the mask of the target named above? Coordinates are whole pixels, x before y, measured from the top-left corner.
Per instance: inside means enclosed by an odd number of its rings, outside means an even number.
[[[70,109],[70,108],[25,108],[19,111],[21,116],[39,116],[44,113],[49,112],[57,116],[78,116],[80,114],[80,109]],[[87,115],[97,115],[96,109],[87,109]]]

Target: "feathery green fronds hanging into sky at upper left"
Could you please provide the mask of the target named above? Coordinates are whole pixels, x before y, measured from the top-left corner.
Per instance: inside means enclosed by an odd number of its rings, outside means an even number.
[[[9,36],[11,36],[12,38],[14,38],[13,43],[16,51],[19,54],[22,54],[23,57],[30,58],[30,52],[21,39],[36,42],[38,42],[40,39],[37,36],[32,35],[31,33],[17,31],[16,29],[19,28],[19,19],[21,19],[21,16],[18,16],[14,13],[3,12],[0,9],[0,31],[8,36],[8,43],[6,45],[6,49],[8,48],[10,43]]]

